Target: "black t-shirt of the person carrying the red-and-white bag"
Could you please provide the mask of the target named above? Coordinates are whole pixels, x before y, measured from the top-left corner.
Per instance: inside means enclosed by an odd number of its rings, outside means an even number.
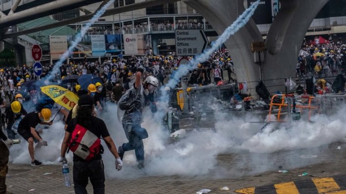
[[[71,133],[71,134],[72,134],[74,127],[75,127],[73,122],[76,122],[76,121],[74,121],[74,120],[76,120],[76,118],[69,121],[69,125],[66,129],[66,131]],[[106,127],[103,120],[101,120],[95,116],[91,116],[90,123],[91,123],[91,126],[90,126],[90,129],[88,129],[88,130],[91,133],[93,133],[95,136],[97,136],[98,138],[101,138],[101,137],[106,138],[109,136],[107,127]],[[102,158],[102,156],[101,156],[101,154],[99,154],[98,156],[93,158],[93,160],[101,160],[101,158]],[[83,160],[79,156],[73,154],[73,161],[75,162],[75,161],[85,161],[85,160]]]

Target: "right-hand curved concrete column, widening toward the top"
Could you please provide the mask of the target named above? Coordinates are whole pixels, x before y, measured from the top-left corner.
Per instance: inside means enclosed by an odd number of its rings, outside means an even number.
[[[311,22],[329,0],[280,0],[281,8],[268,32],[267,55],[263,64],[265,80],[295,77],[297,56]],[[266,81],[266,85],[284,81]],[[270,91],[284,91],[284,86]]]

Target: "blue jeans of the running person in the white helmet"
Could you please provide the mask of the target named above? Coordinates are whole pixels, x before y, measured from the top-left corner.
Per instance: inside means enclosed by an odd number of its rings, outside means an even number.
[[[128,143],[123,144],[124,151],[135,150],[136,158],[138,162],[144,161],[144,145],[142,139],[139,139],[132,132],[133,125],[123,125],[126,138],[129,140]],[[139,125],[138,125],[139,126]]]

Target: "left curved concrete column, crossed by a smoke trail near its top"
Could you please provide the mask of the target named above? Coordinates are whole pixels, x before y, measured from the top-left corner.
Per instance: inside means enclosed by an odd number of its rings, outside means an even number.
[[[183,0],[183,2],[203,15],[219,35],[244,11],[243,0]],[[263,39],[251,19],[244,28],[225,42],[235,64],[238,82],[260,80],[259,65],[254,63],[250,49],[253,41],[263,41]],[[248,88],[254,88],[256,85],[257,83],[248,83]],[[254,90],[249,92],[256,94]]]

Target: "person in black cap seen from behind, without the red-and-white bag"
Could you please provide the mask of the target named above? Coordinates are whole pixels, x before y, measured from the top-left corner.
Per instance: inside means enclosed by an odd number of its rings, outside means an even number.
[[[76,126],[82,126],[87,131],[93,133],[98,138],[103,138],[108,146],[109,151],[115,157],[115,168],[121,170],[122,161],[119,157],[116,146],[110,137],[107,127],[104,121],[93,116],[92,111],[95,109],[94,99],[89,95],[83,95],[78,100],[77,115],[75,118],[69,121],[68,127],[65,132],[65,137],[61,145],[61,156],[59,158],[60,163],[67,163],[65,157],[66,151],[69,148],[69,142],[72,137],[72,133]],[[85,136],[83,137],[84,140]],[[102,145],[100,145],[100,149]],[[101,152],[96,154],[90,160],[86,160],[73,153],[73,184],[74,192],[76,194],[86,194],[86,186],[88,185],[88,179],[93,185],[94,193],[104,194],[104,164],[102,161]]]

